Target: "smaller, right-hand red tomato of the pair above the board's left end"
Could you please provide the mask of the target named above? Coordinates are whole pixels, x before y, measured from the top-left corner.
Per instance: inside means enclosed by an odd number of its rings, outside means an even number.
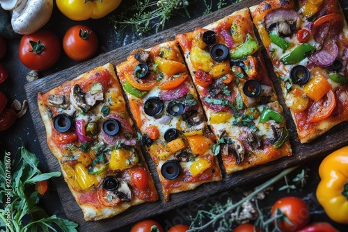
[[[72,60],[87,60],[97,52],[97,35],[88,26],[72,26],[64,35],[63,49]]]

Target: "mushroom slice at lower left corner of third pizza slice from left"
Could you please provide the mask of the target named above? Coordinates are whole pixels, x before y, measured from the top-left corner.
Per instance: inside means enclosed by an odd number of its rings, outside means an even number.
[[[242,142],[240,142],[237,138],[228,137],[228,140],[232,142],[223,143],[220,145],[221,154],[223,154],[224,156],[231,156],[231,155],[235,156],[236,164],[239,165],[244,160],[244,155],[245,155],[244,146]]]

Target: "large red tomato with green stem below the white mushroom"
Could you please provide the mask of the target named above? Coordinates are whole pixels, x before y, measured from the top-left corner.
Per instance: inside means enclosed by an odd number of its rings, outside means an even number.
[[[29,69],[43,71],[52,67],[61,56],[61,42],[50,31],[23,35],[19,43],[19,59]]]

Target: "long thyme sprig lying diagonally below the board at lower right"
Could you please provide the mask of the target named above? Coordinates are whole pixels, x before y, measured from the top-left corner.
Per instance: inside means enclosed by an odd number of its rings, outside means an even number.
[[[188,230],[189,232],[193,231],[203,231],[203,229],[206,229],[208,226],[211,226],[215,224],[216,222],[219,222],[220,224],[222,223],[230,223],[224,219],[226,215],[233,210],[240,210],[240,207],[245,201],[250,201],[253,199],[253,197],[257,196],[260,192],[265,190],[271,185],[274,185],[277,181],[282,179],[285,175],[289,174],[292,172],[294,169],[297,167],[290,167],[288,169],[283,170],[283,172],[280,172],[280,174],[274,176],[273,178],[269,179],[268,181],[262,183],[261,185],[258,185],[258,187],[255,188],[251,194],[248,194],[248,196],[244,197],[243,199],[237,201],[236,203],[233,203],[230,199],[227,201],[225,206],[216,206],[212,208],[212,210],[199,210],[196,217],[191,218],[191,226],[190,229]],[[283,217],[283,215],[276,215],[277,219],[278,217]],[[209,218],[209,222],[205,222],[203,224],[203,219]],[[221,220],[224,219],[224,220]],[[273,218],[275,219],[275,218]],[[220,222],[223,221],[223,222]],[[195,226],[196,222],[198,222],[198,226]],[[267,221],[266,224],[269,222]]]

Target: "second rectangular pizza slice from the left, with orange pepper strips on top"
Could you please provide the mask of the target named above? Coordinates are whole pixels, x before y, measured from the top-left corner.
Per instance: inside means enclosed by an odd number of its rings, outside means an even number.
[[[164,199],[221,180],[198,94],[175,41],[136,49],[116,66]]]

